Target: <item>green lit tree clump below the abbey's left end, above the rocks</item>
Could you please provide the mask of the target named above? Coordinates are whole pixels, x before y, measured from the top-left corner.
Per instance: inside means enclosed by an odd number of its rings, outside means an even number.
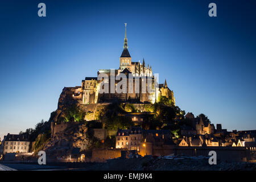
[[[69,121],[80,122],[80,121],[84,121],[85,112],[82,111],[76,105],[71,105],[64,110],[64,115],[65,115],[64,122],[69,122]]]

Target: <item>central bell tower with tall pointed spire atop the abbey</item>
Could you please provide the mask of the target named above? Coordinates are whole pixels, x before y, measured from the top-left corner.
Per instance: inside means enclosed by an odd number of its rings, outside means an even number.
[[[127,23],[125,23],[125,40],[123,41],[123,52],[122,52],[122,55],[120,56],[120,69],[123,70],[127,68],[131,71],[131,56],[128,51],[126,24]]]

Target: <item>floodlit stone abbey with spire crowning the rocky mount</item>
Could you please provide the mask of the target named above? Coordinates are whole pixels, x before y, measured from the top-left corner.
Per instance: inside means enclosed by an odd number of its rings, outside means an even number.
[[[117,86],[120,79],[114,80],[113,85],[113,78],[111,76],[113,75],[115,78],[123,74],[127,76],[127,84],[125,84],[127,92],[118,93]],[[102,79],[101,75],[105,75],[108,79]],[[103,84],[109,92],[100,92]],[[139,85],[139,87],[137,88],[136,85]],[[97,77],[85,77],[85,80],[82,80],[81,87],[77,86],[72,90],[73,98],[79,100],[81,104],[97,104],[114,100],[134,103],[155,103],[159,101],[160,96],[165,96],[170,98],[175,105],[174,92],[168,88],[167,82],[158,84],[156,77],[152,73],[152,67],[146,66],[144,59],[143,63],[132,61],[128,51],[126,24],[123,51],[119,57],[119,68],[114,70],[100,69],[97,72]]]

